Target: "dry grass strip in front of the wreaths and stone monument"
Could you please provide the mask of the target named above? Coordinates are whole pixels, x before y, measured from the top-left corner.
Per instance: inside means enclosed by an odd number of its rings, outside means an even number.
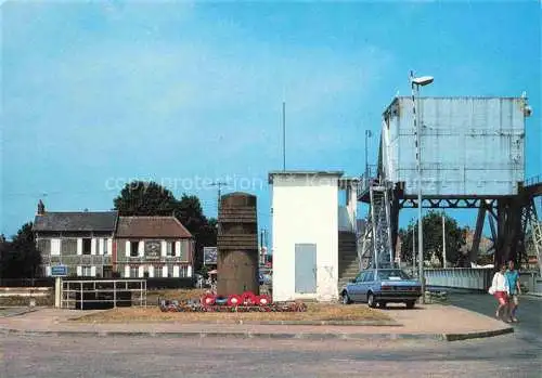
[[[389,321],[379,310],[364,304],[308,303],[307,312],[238,312],[238,313],[190,313],[162,312],[158,307],[119,308],[83,315],[74,322],[85,323],[129,323],[129,322],[180,322],[180,323],[224,323],[266,321]]]

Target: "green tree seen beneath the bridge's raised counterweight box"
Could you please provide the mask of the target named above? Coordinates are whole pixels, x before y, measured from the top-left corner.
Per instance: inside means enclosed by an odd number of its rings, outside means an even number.
[[[462,252],[461,248],[465,246],[465,229],[459,226],[457,222],[443,212],[429,211],[423,217],[424,229],[424,260],[430,260],[435,253],[443,264],[442,261],[442,216],[444,216],[446,226],[446,256],[447,261],[452,265],[461,262]],[[399,236],[401,237],[401,256],[402,260],[412,262],[412,236],[414,232],[416,243],[417,257],[417,222],[411,222],[406,230],[401,229]]]

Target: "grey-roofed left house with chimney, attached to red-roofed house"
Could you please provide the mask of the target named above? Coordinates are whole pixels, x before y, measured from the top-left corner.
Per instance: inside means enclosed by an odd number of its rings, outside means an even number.
[[[41,251],[42,274],[67,266],[68,276],[112,277],[117,212],[46,212],[38,205],[34,234]]]

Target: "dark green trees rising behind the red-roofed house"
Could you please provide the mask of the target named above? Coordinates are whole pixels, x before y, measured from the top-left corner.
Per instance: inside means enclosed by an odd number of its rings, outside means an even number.
[[[203,264],[203,247],[217,245],[217,220],[207,219],[199,198],[173,194],[155,182],[134,181],[126,184],[114,200],[115,210],[121,216],[175,216],[194,235],[195,271]]]

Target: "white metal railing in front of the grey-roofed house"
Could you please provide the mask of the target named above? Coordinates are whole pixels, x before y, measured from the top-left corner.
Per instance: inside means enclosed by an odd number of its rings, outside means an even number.
[[[85,279],[62,283],[63,309],[112,309],[132,304],[146,307],[145,279]]]

